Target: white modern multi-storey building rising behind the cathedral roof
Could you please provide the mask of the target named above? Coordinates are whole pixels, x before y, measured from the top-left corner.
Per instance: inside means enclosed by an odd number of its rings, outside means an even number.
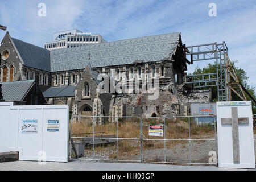
[[[55,34],[53,34],[53,41],[45,43],[44,48],[48,50],[53,50],[105,42],[106,40],[104,40],[101,35],[92,35],[92,33],[84,33],[80,30],[73,29],[68,31],[56,32]]]

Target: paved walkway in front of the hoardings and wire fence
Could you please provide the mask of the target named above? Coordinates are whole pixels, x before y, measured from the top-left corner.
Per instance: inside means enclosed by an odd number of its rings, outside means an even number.
[[[0,171],[223,171],[223,170],[247,170],[247,169],[225,169],[215,166],[178,166],[169,164],[148,163],[100,163],[72,161],[68,163],[46,162],[39,164],[31,161],[15,161],[0,163]]]

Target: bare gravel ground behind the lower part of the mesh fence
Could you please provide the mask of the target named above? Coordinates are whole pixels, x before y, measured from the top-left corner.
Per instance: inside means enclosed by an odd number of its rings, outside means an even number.
[[[256,138],[256,134],[254,135]],[[216,143],[217,145],[217,143]],[[140,160],[139,156],[139,144],[135,144],[137,147],[135,155],[127,155],[126,152],[118,155],[118,159],[121,160]],[[104,150],[94,151],[94,159],[115,159],[116,146],[109,145]],[[254,140],[254,147],[256,153],[256,140]],[[191,162],[192,163],[209,163],[210,151],[215,151],[214,140],[205,141],[191,141]],[[92,159],[92,150],[85,150],[85,156],[80,159]],[[147,149],[143,148],[143,162],[164,162],[164,156],[166,155],[166,162],[170,163],[189,163],[189,143],[180,143],[172,148],[166,148],[166,154],[164,148],[159,149]],[[256,160],[256,155],[255,155]]]

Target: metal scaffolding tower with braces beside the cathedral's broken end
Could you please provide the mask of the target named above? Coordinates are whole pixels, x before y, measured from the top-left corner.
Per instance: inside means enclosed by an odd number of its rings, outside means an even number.
[[[231,91],[236,93],[241,100],[246,100],[245,92],[247,93],[247,90],[238,80],[233,65],[229,60],[228,47],[225,42],[184,46],[184,48],[187,59],[191,64],[193,61],[214,60],[216,65],[216,73],[185,76],[187,84],[193,84],[194,88],[217,86],[218,101],[232,101]],[[247,94],[250,96],[249,93]],[[254,98],[252,100],[255,102]]]

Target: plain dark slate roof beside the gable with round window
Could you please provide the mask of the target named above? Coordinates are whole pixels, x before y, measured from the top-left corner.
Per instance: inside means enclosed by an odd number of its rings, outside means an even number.
[[[27,67],[51,71],[50,51],[22,40],[11,38]]]

